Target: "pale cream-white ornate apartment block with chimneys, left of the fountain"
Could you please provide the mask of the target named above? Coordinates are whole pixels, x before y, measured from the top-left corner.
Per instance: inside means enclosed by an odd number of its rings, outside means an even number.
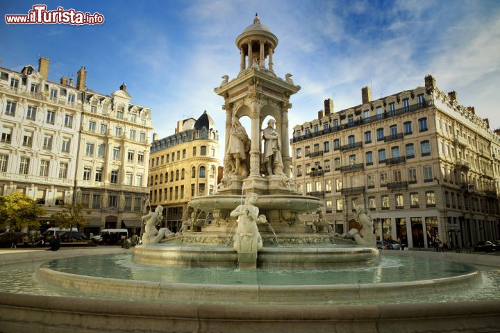
[[[131,228],[147,196],[151,110],[130,103],[122,85],[107,96],[85,87],[87,71],[60,83],[38,71],[0,68],[0,195],[23,191],[50,215],[85,205],[87,232]]]

